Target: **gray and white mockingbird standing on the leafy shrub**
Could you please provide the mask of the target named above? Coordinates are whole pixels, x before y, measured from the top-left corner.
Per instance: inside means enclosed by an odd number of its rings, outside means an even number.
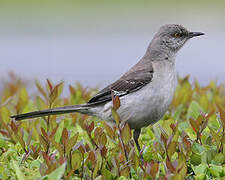
[[[177,24],[162,26],[153,37],[141,60],[120,79],[110,84],[86,104],[58,107],[14,115],[15,120],[48,115],[79,112],[114,121],[111,113],[111,93],[120,97],[117,110],[122,121],[133,131],[133,138],[140,150],[138,138],[141,128],[160,120],[167,111],[176,88],[175,56],[192,37],[204,35],[190,32]]]

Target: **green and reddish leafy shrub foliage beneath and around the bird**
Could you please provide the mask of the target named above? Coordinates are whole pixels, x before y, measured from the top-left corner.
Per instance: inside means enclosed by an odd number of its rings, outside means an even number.
[[[10,115],[87,102],[96,89],[63,83],[26,83],[11,75],[0,92],[0,179],[222,179],[225,178],[225,90],[179,79],[162,120],[143,128],[141,162],[113,98],[116,125],[78,113],[16,122]],[[67,88],[67,87],[66,87]]]

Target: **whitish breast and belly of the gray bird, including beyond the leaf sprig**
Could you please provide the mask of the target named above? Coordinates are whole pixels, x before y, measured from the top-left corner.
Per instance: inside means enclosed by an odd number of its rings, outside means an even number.
[[[160,62],[161,63],[161,62]],[[160,120],[172,102],[176,88],[174,65],[166,65],[162,69],[157,63],[154,66],[152,81],[136,92],[122,96],[121,106],[117,110],[122,121],[127,121],[132,129],[139,129]],[[160,71],[157,71],[157,69]],[[99,107],[97,115],[103,120],[113,121],[111,115],[112,102]]]

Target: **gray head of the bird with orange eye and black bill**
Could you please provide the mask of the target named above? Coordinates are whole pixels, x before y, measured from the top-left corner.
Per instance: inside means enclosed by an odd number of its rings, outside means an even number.
[[[204,33],[190,32],[178,24],[166,24],[156,33],[152,43],[160,49],[176,53],[187,40],[201,35]]]

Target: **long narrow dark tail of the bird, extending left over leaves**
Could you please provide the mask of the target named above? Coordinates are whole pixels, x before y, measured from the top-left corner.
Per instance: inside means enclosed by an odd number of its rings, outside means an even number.
[[[89,108],[85,104],[65,106],[65,107],[58,107],[58,108],[41,110],[41,111],[34,111],[34,112],[25,113],[25,114],[13,115],[11,116],[11,118],[14,118],[16,121],[20,121],[23,119],[36,118],[36,117],[42,117],[42,116],[48,116],[48,115],[66,114],[66,113],[72,113],[72,112],[88,113],[88,109]]]

